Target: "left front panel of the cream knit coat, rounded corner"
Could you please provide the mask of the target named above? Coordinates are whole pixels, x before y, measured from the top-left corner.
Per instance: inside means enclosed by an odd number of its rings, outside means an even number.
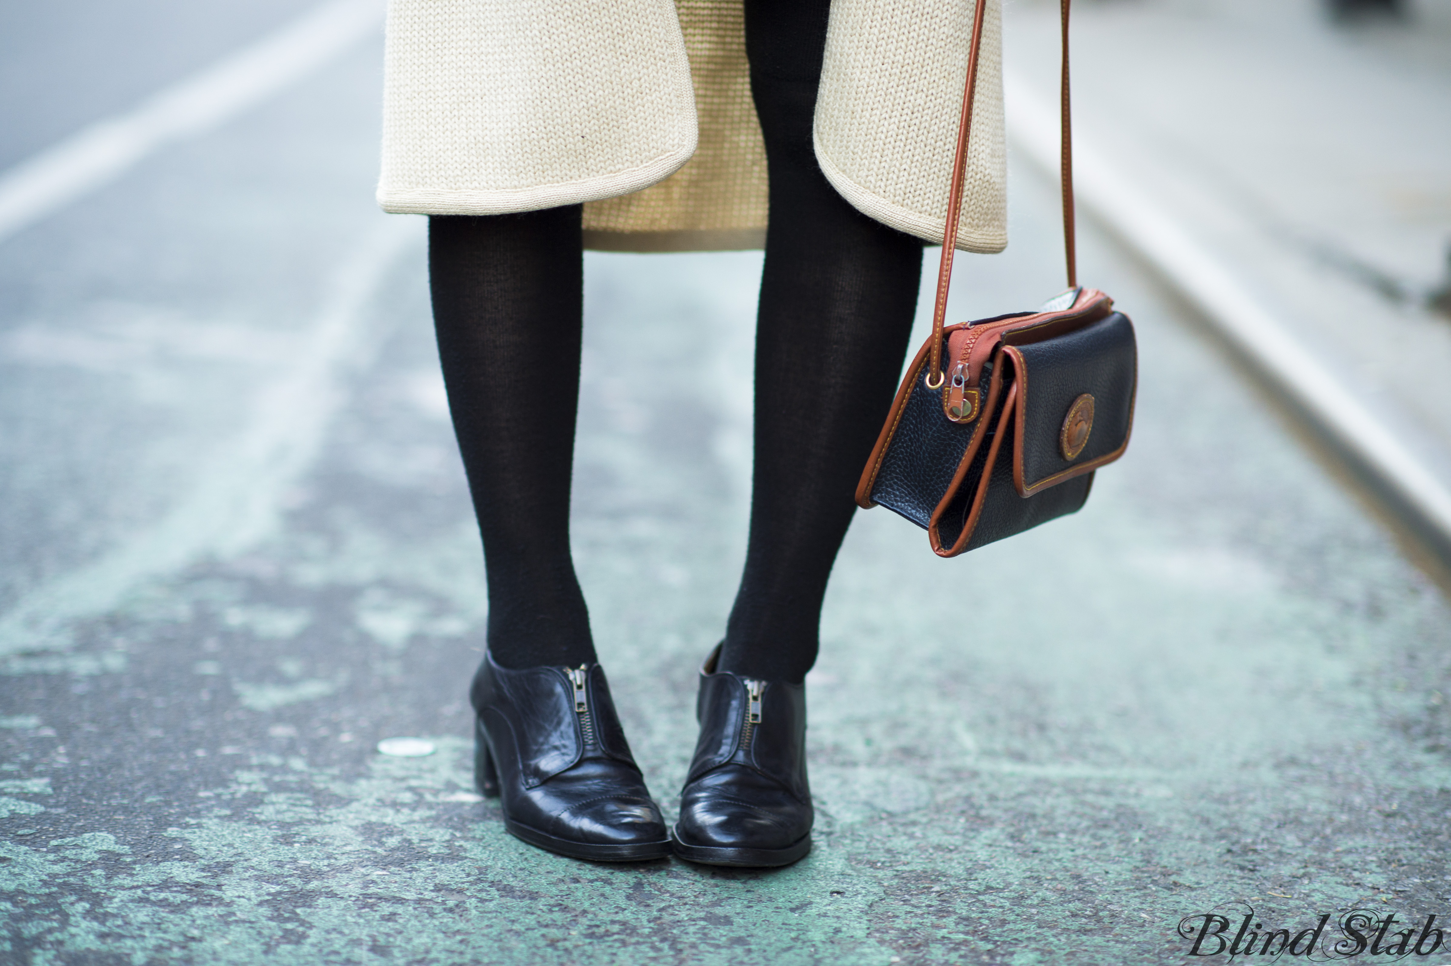
[[[389,212],[493,215],[614,197],[695,151],[670,0],[390,0]]]

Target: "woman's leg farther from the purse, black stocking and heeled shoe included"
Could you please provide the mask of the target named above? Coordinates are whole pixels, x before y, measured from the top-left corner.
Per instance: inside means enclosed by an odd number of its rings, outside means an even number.
[[[575,205],[429,220],[438,355],[489,579],[474,782],[527,843],[637,862],[669,854],[670,837],[595,663],[569,554],[579,219]],[[562,753],[573,764],[560,769]]]

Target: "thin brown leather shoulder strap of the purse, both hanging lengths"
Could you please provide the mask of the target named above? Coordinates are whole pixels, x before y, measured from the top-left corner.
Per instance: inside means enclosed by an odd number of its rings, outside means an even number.
[[[1064,194],[1064,247],[1068,258],[1068,287],[1077,287],[1078,270],[1074,245],[1074,158],[1072,128],[1068,103],[1068,3],[1059,0],[1062,13],[1062,149],[1059,155],[1059,180]],[[948,193],[948,220],[942,232],[942,263],[937,267],[937,300],[932,309],[932,354],[927,361],[927,384],[936,389],[946,380],[942,370],[942,329],[948,315],[948,290],[952,286],[952,258],[958,249],[958,219],[962,216],[962,187],[968,170],[968,141],[972,135],[972,100],[977,93],[978,61],[982,52],[982,23],[987,15],[987,0],[977,0],[972,15],[972,42],[968,49],[968,80],[962,91],[962,117],[958,122],[958,148],[952,160],[952,189]]]

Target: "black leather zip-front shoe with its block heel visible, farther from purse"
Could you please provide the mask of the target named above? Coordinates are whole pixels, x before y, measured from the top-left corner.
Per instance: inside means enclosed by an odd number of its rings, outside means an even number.
[[[470,698],[474,783],[514,835],[595,862],[670,854],[599,664],[511,670],[485,653]]]

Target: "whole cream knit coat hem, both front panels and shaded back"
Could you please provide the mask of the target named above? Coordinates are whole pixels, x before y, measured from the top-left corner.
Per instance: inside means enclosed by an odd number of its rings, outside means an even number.
[[[942,244],[972,0],[833,0],[815,109],[827,180]],[[1001,0],[988,0],[958,247],[1007,245]],[[741,0],[389,0],[385,210],[585,203],[585,244],[755,248],[766,160]]]

